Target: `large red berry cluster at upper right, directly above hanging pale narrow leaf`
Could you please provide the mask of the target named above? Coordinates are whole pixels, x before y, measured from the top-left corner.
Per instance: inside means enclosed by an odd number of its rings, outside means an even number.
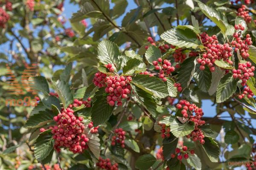
[[[207,52],[202,55],[202,58],[198,58],[197,62],[200,65],[200,70],[205,69],[205,65],[208,65],[210,71],[215,71],[214,62],[216,59],[223,59],[224,61],[233,64],[229,57],[232,56],[232,47],[228,43],[224,45],[218,43],[216,35],[211,37],[205,32],[200,35],[201,41],[204,46],[207,47]]]

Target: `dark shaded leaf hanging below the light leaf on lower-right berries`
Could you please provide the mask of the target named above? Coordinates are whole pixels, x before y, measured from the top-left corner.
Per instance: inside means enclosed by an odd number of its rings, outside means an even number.
[[[175,153],[177,147],[178,138],[171,136],[169,138],[163,139],[163,157],[165,160],[171,159],[172,153]]]

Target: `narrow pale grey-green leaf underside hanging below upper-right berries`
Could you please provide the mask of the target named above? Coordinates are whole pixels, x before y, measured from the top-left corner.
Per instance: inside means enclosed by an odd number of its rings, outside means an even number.
[[[208,90],[209,95],[212,96],[213,94],[215,94],[217,87],[218,87],[218,83],[220,82],[220,80],[224,76],[224,74],[225,74],[225,71],[219,67],[216,67],[215,71],[212,72],[211,85]]]

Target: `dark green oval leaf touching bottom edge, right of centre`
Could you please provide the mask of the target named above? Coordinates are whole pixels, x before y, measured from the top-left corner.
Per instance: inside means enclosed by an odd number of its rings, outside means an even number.
[[[157,161],[157,159],[153,155],[145,154],[136,160],[135,167],[140,170],[147,170],[155,163],[155,161]]]

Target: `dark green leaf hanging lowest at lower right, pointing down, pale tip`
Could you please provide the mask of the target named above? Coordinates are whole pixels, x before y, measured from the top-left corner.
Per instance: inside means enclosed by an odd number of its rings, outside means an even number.
[[[210,161],[218,162],[220,148],[218,147],[217,142],[215,142],[215,140],[208,137],[205,137],[204,141],[205,143],[202,144],[202,147],[204,148],[204,151],[209,157]]]

